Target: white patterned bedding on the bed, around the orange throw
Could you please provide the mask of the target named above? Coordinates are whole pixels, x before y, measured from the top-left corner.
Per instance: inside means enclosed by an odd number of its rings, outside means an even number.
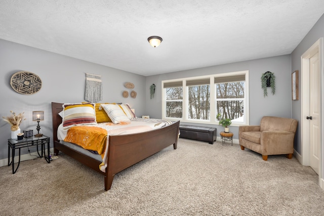
[[[172,121],[153,119],[153,118],[133,118],[130,122],[125,122],[125,124],[112,124],[111,122],[99,123],[96,125],[88,126],[97,126],[106,129],[107,136],[112,135],[127,135],[127,134],[136,134],[141,132],[152,131],[153,129],[161,128],[167,125],[172,124]],[[85,126],[85,125],[84,125]],[[67,136],[68,129],[63,129],[63,125],[60,124],[57,130],[57,137],[59,140],[64,140]],[[105,155],[100,165],[100,170],[105,172],[107,167],[107,152],[108,152],[108,140],[105,149]]]

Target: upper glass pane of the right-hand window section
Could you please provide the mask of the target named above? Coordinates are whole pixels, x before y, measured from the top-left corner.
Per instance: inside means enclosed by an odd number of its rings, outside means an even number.
[[[217,83],[217,99],[244,98],[245,81]]]

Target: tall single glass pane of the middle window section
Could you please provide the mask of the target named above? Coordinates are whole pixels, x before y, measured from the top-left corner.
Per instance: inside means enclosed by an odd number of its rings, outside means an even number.
[[[188,88],[188,118],[210,119],[210,85],[194,85]]]

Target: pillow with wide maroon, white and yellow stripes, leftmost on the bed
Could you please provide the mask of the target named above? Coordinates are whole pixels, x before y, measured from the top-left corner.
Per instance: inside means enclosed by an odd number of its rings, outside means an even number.
[[[97,124],[93,103],[63,104],[63,111],[63,129],[75,125]]]

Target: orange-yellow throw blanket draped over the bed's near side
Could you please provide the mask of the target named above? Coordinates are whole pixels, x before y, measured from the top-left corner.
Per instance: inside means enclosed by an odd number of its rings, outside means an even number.
[[[103,159],[107,144],[107,131],[101,127],[74,126],[68,129],[64,141],[87,150],[97,151]]]

